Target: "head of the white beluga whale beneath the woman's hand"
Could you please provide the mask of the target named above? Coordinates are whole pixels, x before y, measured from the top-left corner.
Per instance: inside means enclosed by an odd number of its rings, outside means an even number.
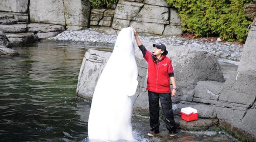
[[[133,47],[133,48],[131,48]],[[116,44],[113,50],[113,53],[118,52],[129,54],[134,54],[135,52],[135,41],[134,41],[134,33],[131,27],[123,28],[120,30],[117,38]]]

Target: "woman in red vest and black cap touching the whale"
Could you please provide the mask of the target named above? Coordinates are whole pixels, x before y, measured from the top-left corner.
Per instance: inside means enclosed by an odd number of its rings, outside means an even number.
[[[133,27],[132,27],[133,28]],[[159,98],[165,116],[166,128],[170,136],[177,135],[176,123],[174,121],[171,96],[176,95],[176,83],[174,71],[171,65],[171,59],[166,57],[168,51],[164,44],[153,44],[154,52],[150,53],[141,43],[136,30],[133,28],[134,36],[143,58],[148,63],[147,90],[150,111],[150,127],[151,130],[147,134],[154,136],[159,133]],[[173,89],[171,91],[171,83]]]

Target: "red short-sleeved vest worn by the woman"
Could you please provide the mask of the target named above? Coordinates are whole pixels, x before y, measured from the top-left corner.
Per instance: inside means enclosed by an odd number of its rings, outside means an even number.
[[[147,90],[156,93],[171,92],[170,73],[173,73],[171,59],[162,56],[161,60],[156,60],[152,57],[152,53],[148,50],[143,56],[148,63]]]

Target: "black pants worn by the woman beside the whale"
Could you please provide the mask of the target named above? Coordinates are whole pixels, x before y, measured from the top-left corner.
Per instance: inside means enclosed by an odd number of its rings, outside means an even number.
[[[171,104],[171,93],[156,93],[148,91],[150,127],[152,130],[159,132],[159,98],[164,111],[167,130],[169,133],[177,133]]]

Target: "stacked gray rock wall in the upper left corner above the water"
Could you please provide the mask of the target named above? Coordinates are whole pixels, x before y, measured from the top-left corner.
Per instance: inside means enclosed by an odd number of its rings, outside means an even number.
[[[89,0],[1,0],[0,31],[12,45],[24,45],[88,27]]]

